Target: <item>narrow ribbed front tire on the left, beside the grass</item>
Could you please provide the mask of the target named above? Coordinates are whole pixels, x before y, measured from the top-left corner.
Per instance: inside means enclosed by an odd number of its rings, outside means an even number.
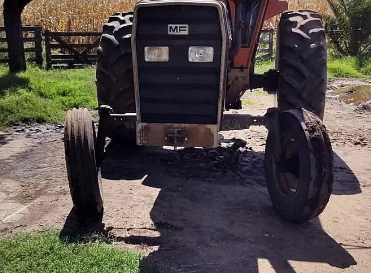
[[[72,202],[82,218],[103,214],[101,170],[95,158],[93,119],[85,108],[68,110],[64,121],[64,151]]]

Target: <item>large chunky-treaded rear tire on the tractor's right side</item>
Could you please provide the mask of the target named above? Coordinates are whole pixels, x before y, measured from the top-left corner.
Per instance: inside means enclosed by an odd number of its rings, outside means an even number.
[[[327,89],[327,43],[322,15],[283,13],[277,38],[278,108],[305,108],[323,119]]]

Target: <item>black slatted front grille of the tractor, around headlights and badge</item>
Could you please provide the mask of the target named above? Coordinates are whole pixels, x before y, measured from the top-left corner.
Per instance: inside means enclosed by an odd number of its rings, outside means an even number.
[[[188,35],[168,35],[168,24],[188,24]],[[168,46],[170,61],[144,62],[144,46]],[[188,62],[189,46],[214,47],[214,61]],[[141,121],[216,124],[221,48],[219,14],[215,7],[140,8],[136,49]]]

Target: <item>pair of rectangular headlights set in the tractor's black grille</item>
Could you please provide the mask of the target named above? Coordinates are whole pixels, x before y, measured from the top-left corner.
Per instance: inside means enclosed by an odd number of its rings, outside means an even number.
[[[146,46],[144,47],[144,61],[146,62],[167,62],[169,61],[168,46]],[[213,62],[214,48],[211,46],[190,46],[188,47],[189,62]]]

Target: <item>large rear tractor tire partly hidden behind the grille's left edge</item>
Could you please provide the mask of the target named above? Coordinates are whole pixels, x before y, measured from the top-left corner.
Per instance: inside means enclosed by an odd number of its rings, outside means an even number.
[[[131,58],[132,12],[116,13],[103,25],[98,47],[97,96],[99,105],[113,108],[114,113],[135,113],[134,80]],[[108,137],[135,139],[135,130],[109,124]]]

